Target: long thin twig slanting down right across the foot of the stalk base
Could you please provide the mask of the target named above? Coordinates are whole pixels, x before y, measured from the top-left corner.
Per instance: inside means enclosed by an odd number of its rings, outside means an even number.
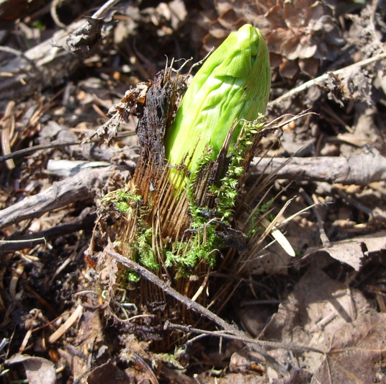
[[[146,278],[147,280],[151,281],[152,283],[159,286],[165,293],[171,295],[178,301],[185,304],[188,308],[201,313],[202,315],[206,316],[213,322],[215,322],[217,325],[221,326],[223,329],[227,330],[228,332],[236,335],[237,337],[245,338],[246,335],[241,330],[237,329],[234,325],[227,323],[225,320],[223,320],[221,317],[217,316],[215,313],[210,311],[209,309],[205,308],[205,306],[191,300],[190,298],[184,296],[183,294],[177,292],[175,289],[173,289],[170,285],[168,285],[165,281],[161,280],[159,277],[157,277],[154,273],[150,272],[145,267],[139,265],[138,263],[134,262],[133,260],[130,260],[118,252],[116,252],[113,249],[113,244],[109,242],[107,247],[105,248],[105,251],[107,254],[109,254],[111,257],[113,257],[115,260],[120,262],[122,265],[127,266],[129,268],[132,268],[135,272],[140,274],[142,277]],[[288,375],[287,370],[280,365],[272,356],[270,356],[267,351],[264,349],[264,347],[261,345],[263,342],[260,342],[260,340],[256,340],[256,343],[247,343],[249,347],[254,349],[256,352],[261,354],[267,364],[269,364],[273,369],[275,369],[277,372],[279,372],[281,375],[286,376]]]

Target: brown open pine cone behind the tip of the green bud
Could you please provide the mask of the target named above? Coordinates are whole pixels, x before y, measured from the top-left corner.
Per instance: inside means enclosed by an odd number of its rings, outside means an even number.
[[[243,23],[258,27],[267,40],[271,67],[293,78],[299,68],[314,77],[321,60],[336,59],[345,44],[333,9],[321,0],[215,0],[218,17],[204,37],[204,48],[218,46]]]

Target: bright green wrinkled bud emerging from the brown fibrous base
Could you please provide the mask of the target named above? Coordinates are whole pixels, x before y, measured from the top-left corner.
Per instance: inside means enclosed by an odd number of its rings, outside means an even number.
[[[245,24],[230,33],[190,83],[164,139],[169,164],[194,152],[189,165],[194,171],[205,147],[214,160],[235,120],[253,121],[265,112],[270,86],[267,44],[259,29]],[[231,147],[242,126],[240,121]]]

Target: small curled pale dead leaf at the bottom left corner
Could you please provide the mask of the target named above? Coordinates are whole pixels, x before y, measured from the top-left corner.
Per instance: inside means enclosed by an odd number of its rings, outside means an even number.
[[[30,384],[55,384],[56,370],[52,361],[43,357],[29,356],[27,354],[14,354],[6,360],[7,364],[23,363]]]

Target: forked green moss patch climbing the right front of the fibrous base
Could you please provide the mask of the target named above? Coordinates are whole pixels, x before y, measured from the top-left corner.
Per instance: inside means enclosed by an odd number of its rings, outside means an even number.
[[[264,116],[260,114],[255,121],[245,122],[237,143],[228,150],[230,157],[228,169],[219,180],[218,185],[209,186],[209,192],[215,196],[214,208],[198,206],[195,200],[195,191],[200,175],[205,172],[205,168],[212,161],[211,148],[206,147],[204,150],[197,162],[196,170],[186,179],[189,213],[192,216],[191,237],[189,241],[180,242],[177,250],[165,251],[165,265],[167,267],[174,265],[180,274],[188,275],[189,270],[194,268],[202,259],[206,260],[210,266],[214,266],[216,255],[223,246],[222,240],[216,232],[220,230],[220,223],[222,226],[229,225],[229,219],[238,196],[238,182],[244,173],[244,168],[241,166],[244,155],[252,144],[253,136],[262,128],[263,118]],[[266,209],[267,206],[261,206],[258,213]]]

